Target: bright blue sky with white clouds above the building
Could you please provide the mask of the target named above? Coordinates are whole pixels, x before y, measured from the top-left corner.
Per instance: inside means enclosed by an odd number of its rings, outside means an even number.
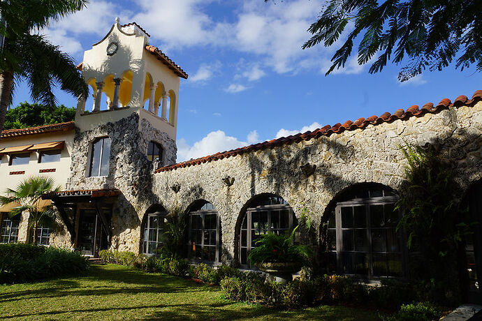
[[[411,105],[472,97],[482,89],[474,68],[426,71],[401,84],[402,66],[370,75],[351,57],[325,77],[335,47],[301,50],[323,1],[91,0],[86,10],[45,32],[76,61],[101,40],[119,16],[135,21],[189,74],[181,80],[177,160],[198,158],[300,130],[407,109]],[[59,103],[75,98],[57,91]],[[15,103],[30,101],[28,87]]]

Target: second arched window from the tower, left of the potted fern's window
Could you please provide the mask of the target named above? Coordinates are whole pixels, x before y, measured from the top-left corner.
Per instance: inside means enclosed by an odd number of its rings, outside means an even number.
[[[193,204],[188,217],[187,257],[194,261],[221,262],[221,220],[209,202]]]

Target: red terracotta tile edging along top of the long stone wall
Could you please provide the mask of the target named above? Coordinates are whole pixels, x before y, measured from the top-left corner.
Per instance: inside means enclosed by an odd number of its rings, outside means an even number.
[[[427,112],[435,113],[451,106],[460,107],[462,105],[473,105],[474,103],[481,100],[482,100],[482,90],[478,90],[474,92],[474,95],[472,96],[472,100],[469,100],[467,96],[462,95],[462,96],[458,96],[458,98],[454,100],[453,104],[451,103],[450,99],[444,98],[436,106],[434,106],[433,103],[425,103],[425,105],[423,105],[423,107],[421,108],[419,108],[418,105],[411,105],[411,107],[407,109],[407,112],[405,112],[402,109],[398,109],[398,110],[395,110],[393,114],[390,114],[390,112],[384,112],[384,114],[381,114],[380,117],[373,115],[371,117],[368,117],[367,119],[360,117],[359,119],[356,119],[356,121],[348,120],[348,121],[345,121],[343,125],[340,123],[333,125],[333,127],[330,125],[326,125],[321,128],[315,129],[313,131],[308,130],[305,133],[297,133],[295,135],[289,135],[287,137],[278,137],[273,140],[267,140],[265,142],[258,142],[256,144],[251,144],[245,147],[231,149],[230,151],[219,152],[211,156],[205,156],[203,158],[197,158],[195,160],[186,160],[182,163],[161,167],[158,170],[156,170],[156,172],[167,172],[169,170],[175,170],[180,167],[196,165],[197,163],[199,163],[199,161],[201,161],[202,163],[205,163],[205,162],[210,162],[212,160],[217,160],[220,158],[228,158],[231,156],[241,155],[247,151],[256,151],[259,149],[265,149],[267,147],[275,147],[281,144],[288,144],[290,142],[301,142],[302,140],[319,138],[323,135],[329,136],[333,133],[342,133],[343,130],[353,130],[357,128],[363,128],[367,124],[377,125],[377,124],[381,124],[382,122],[393,121],[396,119],[407,119],[411,116],[418,116],[418,115],[425,114]]]

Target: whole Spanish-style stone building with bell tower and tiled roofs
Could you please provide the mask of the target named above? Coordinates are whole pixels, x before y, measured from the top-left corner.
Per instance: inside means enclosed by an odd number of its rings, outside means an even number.
[[[79,66],[92,107],[79,101],[73,123],[1,134],[2,189],[34,174],[61,185],[44,197],[59,211],[45,243],[94,256],[103,248],[151,254],[166,214],[177,213],[187,223],[186,257],[247,267],[258,237],[289,232],[307,215],[330,271],[404,278],[402,214],[393,209],[405,143],[440,149],[458,197],[480,220],[482,91],[175,163],[187,74],[148,40],[138,24],[116,21]],[[29,241],[28,215],[8,210],[0,209],[1,241]],[[472,243],[465,255],[478,290],[482,244]]]

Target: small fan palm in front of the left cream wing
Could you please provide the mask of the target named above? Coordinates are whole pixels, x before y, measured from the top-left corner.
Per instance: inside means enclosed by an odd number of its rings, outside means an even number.
[[[18,204],[10,210],[10,216],[23,211],[29,212],[29,228],[34,231],[34,244],[37,244],[37,227],[49,226],[55,218],[52,204],[42,204],[42,195],[52,191],[60,191],[54,187],[54,179],[50,177],[29,177],[18,184],[17,188],[6,190],[6,196],[0,196],[0,204]]]

